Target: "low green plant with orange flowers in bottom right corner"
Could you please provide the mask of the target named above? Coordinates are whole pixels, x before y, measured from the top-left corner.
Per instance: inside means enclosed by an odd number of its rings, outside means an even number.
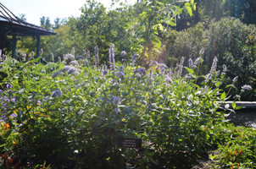
[[[210,155],[214,166],[221,168],[253,168],[255,167],[255,129],[235,127],[227,124],[209,129],[214,134],[220,155]]]

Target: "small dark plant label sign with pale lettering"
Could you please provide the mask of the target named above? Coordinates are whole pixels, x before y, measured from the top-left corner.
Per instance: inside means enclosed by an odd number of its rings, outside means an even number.
[[[118,138],[118,147],[142,148],[142,139]]]

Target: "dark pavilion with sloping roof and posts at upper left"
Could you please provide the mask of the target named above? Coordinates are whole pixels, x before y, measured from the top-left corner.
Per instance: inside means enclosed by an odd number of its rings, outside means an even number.
[[[40,26],[32,25],[16,17],[8,8],[0,3],[0,49],[3,46],[7,35],[12,36],[12,57],[16,55],[17,37],[31,36],[36,39],[36,57],[40,52],[40,36],[56,35],[53,30],[47,30]]]

